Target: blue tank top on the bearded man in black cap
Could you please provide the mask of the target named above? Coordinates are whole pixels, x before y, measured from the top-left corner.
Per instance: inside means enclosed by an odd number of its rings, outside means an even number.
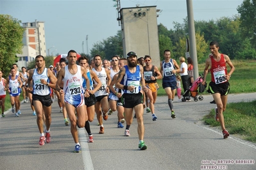
[[[136,94],[139,93],[139,91],[141,91],[141,86],[140,86],[140,82],[141,82],[141,72],[140,72],[140,66],[137,65],[136,66],[136,71],[135,73],[131,73],[129,71],[128,66],[124,66],[125,68],[125,75],[124,75],[124,86],[135,86],[135,89],[133,89],[133,91],[130,90],[126,90],[124,89],[124,93],[129,93],[129,94]]]

